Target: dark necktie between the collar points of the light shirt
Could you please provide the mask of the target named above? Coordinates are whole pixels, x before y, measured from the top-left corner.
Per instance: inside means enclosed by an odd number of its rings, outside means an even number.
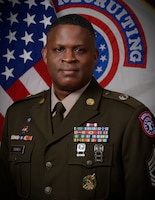
[[[61,121],[63,120],[63,113],[65,112],[65,110],[66,109],[61,102],[58,102],[55,105],[54,111],[56,112],[56,114],[54,115],[54,117],[52,117],[52,126],[53,126],[54,133],[57,127],[59,126],[59,124],[61,123]]]

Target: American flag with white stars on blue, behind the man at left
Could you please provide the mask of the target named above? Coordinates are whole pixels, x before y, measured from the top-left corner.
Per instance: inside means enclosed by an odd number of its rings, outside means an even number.
[[[7,108],[51,84],[41,50],[55,19],[50,0],[0,0],[0,139]]]

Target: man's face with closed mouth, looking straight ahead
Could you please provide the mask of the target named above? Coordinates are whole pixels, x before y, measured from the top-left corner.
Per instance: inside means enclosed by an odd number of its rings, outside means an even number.
[[[95,39],[86,28],[58,25],[42,51],[55,90],[75,91],[86,85],[98,59]]]

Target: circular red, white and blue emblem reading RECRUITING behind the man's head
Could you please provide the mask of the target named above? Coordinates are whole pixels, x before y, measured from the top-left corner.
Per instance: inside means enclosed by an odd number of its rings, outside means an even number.
[[[96,35],[96,47],[99,50],[93,76],[102,87],[106,87],[113,80],[118,68],[122,66],[146,68],[147,46],[143,28],[126,3],[113,0],[113,3],[106,1],[102,6],[102,3],[93,0],[79,0],[76,3],[69,0],[58,2],[53,2],[58,16],[76,13],[91,21]],[[111,8],[111,4],[115,9]],[[129,35],[127,25],[122,25],[125,24],[124,16],[132,19],[133,27],[138,31],[135,40],[138,41],[140,38],[141,50],[131,48],[129,38],[133,35]]]

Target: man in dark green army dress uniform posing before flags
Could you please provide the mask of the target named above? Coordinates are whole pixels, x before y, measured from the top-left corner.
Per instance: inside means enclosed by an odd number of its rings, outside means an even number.
[[[154,116],[93,78],[92,25],[76,14],[57,19],[42,55],[52,87],[14,103],[5,118],[1,163],[15,199],[154,199]],[[57,102],[65,109],[55,128]]]

